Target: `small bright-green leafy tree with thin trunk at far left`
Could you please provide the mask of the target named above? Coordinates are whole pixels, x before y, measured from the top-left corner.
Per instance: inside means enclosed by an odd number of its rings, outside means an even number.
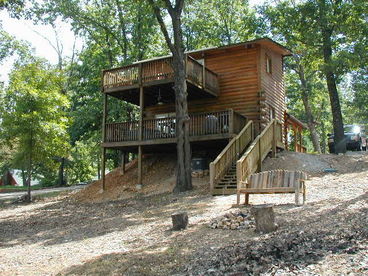
[[[13,150],[11,163],[27,173],[28,200],[31,200],[31,178],[42,166],[55,170],[56,156],[68,152],[65,114],[67,98],[60,93],[60,75],[46,62],[18,65],[10,74],[3,91],[1,131]]]

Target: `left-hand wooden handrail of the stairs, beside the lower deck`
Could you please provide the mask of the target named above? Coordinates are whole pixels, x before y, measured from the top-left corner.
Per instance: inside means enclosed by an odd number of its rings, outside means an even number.
[[[230,169],[234,161],[239,158],[246,146],[253,141],[253,121],[249,121],[243,129],[227,144],[214,161],[210,163],[210,189],[211,193],[215,185]]]

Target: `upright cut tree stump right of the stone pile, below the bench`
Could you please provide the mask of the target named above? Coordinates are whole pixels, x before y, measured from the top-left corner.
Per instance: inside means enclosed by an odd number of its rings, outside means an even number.
[[[262,204],[253,206],[251,213],[256,222],[256,232],[269,233],[276,230],[277,225],[275,224],[273,205]]]

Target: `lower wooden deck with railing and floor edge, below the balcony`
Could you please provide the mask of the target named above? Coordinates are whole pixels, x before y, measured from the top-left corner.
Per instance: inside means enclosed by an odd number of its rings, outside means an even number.
[[[229,139],[246,124],[246,118],[233,110],[190,114],[190,141]],[[175,117],[144,119],[139,121],[107,123],[105,147],[176,143]]]

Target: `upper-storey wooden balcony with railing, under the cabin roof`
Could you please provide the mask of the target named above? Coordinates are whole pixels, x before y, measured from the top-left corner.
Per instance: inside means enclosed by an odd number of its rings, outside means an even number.
[[[219,93],[217,74],[186,55],[188,100],[213,98]],[[139,88],[144,87],[144,106],[174,103],[172,57],[143,61],[103,71],[103,92],[139,105]]]

